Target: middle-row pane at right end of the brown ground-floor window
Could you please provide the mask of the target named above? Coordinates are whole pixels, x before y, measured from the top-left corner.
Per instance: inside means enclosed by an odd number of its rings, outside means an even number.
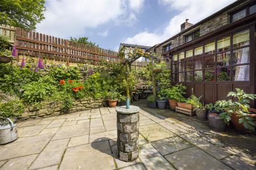
[[[233,50],[233,64],[238,65],[241,63],[250,62],[249,47]]]

